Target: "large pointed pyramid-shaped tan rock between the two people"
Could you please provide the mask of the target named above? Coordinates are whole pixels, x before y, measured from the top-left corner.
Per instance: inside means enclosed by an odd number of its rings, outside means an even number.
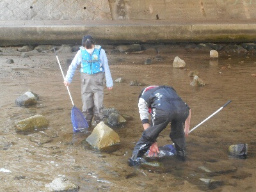
[[[120,143],[120,138],[113,129],[100,122],[86,141],[94,148],[102,149]]]

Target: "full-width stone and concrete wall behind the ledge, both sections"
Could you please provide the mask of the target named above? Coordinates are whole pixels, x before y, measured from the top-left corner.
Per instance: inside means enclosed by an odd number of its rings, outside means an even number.
[[[1,0],[0,20],[256,19],[256,0]]]

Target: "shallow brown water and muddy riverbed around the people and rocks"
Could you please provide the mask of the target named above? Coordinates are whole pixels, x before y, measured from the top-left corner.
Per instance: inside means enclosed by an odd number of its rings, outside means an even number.
[[[58,54],[63,70],[67,59]],[[115,83],[113,90],[104,90],[105,108],[116,108],[132,116],[121,128],[113,128],[120,136],[120,145],[108,150],[95,150],[85,139],[90,132],[72,132],[72,103],[54,53],[38,53],[22,58],[17,54],[0,56],[0,191],[38,191],[58,177],[77,184],[79,191],[255,191],[256,190],[256,55],[220,54],[210,60],[209,52],[175,49],[164,54],[110,54],[109,68]],[[161,57],[157,57],[161,56]],[[179,56],[186,67],[173,68]],[[12,58],[14,63],[7,64]],[[145,65],[148,58],[151,65]],[[190,85],[191,70],[199,72],[205,86]],[[191,129],[225,102],[230,104],[202,124],[187,138],[186,161],[175,157],[148,159],[163,163],[161,167],[129,167],[134,143],[143,131],[138,113],[138,94],[142,86],[130,86],[137,80],[145,84],[168,84],[191,108]],[[39,95],[35,106],[15,105],[15,99],[28,90]],[[70,85],[75,105],[81,109],[79,72]],[[15,122],[36,114],[50,122],[47,129],[30,134],[15,131]],[[90,130],[92,131],[92,130]],[[159,136],[158,145],[172,143],[170,127]],[[228,155],[228,147],[248,144],[248,157],[236,159]],[[6,171],[4,171],[6,170]],[[211,172],[209,172],[209,170]],[[207,184],[200,179],[217,180]]]

